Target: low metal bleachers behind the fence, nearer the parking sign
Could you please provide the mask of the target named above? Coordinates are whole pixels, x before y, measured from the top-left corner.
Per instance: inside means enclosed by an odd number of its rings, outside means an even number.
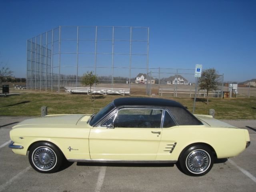
[[[195,90],[194,89],[170,89],[170,88],[159,88],[158,90],[159,96],[184,96],[184,97],[194,97],[195,96]],[[206,97],[207,96],[207,90],[198,90],[197,94],[198,97]],[[210,97],[217,97],[220,98],[222,96],[221,90],[213,90],[208,92],[208,95]]]

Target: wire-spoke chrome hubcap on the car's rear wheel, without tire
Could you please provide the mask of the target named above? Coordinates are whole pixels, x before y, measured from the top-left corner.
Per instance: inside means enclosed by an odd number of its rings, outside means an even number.
[[[186,166],[190,172],[199,174],[208,169],[210,162],[208,152],[204,150],[194,150],[187,156]]]

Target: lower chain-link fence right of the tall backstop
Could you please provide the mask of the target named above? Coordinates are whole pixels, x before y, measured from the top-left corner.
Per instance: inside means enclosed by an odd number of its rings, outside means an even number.
[[[194,97],[194,69],[152,68],[148,76],[154,83],[148,84],[147,95]],[[215,98],[250,98],[256,97],[256,82],[224,81],[224,74],[219,75],[217,89],[208,92],[209,97]],[[207,91],[198,86],[197,97],[207,97]]]

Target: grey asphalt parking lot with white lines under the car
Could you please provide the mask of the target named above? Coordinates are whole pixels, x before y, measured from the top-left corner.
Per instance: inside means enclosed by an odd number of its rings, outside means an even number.
[[[0,116],[0,191],[256,191],[256,120],[225,120],[250,133],[251,145],[238,157],[214,164],[202,177],[186,176],[175,164],[67,164],[54,174],[34,171],[27,156],[8,148],[9,131],[28,117]]]

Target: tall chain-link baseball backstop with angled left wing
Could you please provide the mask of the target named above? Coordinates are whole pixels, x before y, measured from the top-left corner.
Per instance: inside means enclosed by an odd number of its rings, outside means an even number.
[[[148,27],[59,26],[27,40],[27,88],[61,92],[93,71],[101,87],[131,89],[148,73],[148,44]]]

